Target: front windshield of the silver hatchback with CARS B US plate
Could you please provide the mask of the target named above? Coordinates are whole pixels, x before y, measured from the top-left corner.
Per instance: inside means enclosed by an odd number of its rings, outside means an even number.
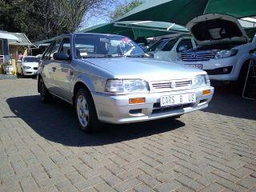
[[[118,35],[77,34],[76,58],[147,57],[130,38]]]

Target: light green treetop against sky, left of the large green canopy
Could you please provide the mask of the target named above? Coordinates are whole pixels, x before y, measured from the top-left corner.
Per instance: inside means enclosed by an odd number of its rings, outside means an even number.
[[[133,10],[136,6],[144,3],[145,0],[132,0],[130,3],[125,3],[123,5],[117,6],[112,14],[110,14],[111,22],[114,22],[118,18],[121,18],[122,15],[126,14],[130,10]]]

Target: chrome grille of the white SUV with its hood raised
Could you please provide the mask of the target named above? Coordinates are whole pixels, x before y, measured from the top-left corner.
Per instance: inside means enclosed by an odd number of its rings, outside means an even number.
[[[193,53],[183,53],[182,61],[184,62],[200,62],[200,61],[208,61],[211,58],[215,57],[216,52],[213,51],[204,51],[204,52],[193,52]]]

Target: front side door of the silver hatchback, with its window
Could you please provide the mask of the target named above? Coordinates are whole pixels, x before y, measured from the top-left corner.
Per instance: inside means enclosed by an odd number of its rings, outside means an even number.
[[[59,53],[66,53],[70,55],[70,60],[54,60],[53,63],[53,82],[57,94],[59,97],[63,98],[67,102],[72,102],[71,91],[70,91],[70,80],[73,78],[73,69],[70,66],[71,62],[71,48],[70,48],[70,37],[62,39]]]

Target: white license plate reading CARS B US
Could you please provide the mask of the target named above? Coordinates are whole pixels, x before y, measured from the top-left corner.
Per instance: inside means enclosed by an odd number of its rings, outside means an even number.
[[[160,97],[160,106],[178,106],[196,102],[195,94],[170,94]]]

